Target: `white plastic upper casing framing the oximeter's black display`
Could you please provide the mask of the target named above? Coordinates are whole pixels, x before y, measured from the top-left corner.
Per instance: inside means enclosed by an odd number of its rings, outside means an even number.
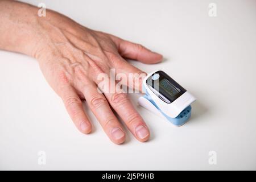
[[[164,114],[168,115],[171,118],[176,118],[177,115],[179,115],[181,111],[183,111],[187,106],[191,105],[191,103],[195,101],[196,98],[187,91],[170,104],[162,101],[158,96],[156,96],[154,92],[152,92],[150,88],[148,88],[146,83],[147,78],[153,75],[155,72],[148,74],[147,77],[144,78],[144,88],[147,89],[147,92],[148,94],[150,94],[152,100],[154,100],[155,104],[159,107],[160,110],[163,111]]]

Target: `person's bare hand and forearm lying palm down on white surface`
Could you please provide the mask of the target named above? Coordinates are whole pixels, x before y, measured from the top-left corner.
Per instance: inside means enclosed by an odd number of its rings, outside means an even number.
[[[63,103],[79,131],[89,134],[92,124],[82,100],[96,115],[105,133],[114,143],[125,141],[125,131],[113,110],[141,142],[150,138],[150,131],[125,93],[99,93],[98,74],[138,73],[125,58],[145,64],[159,63],[162,55],[140,44],[91,30],[67,16],[47,10],[38,16],[38,8],[15,1],[0,0],[0,49],[20,52],[38,60],[44,77]],[[135,79],[135,77],[133,78]],[[139,85],[128,84],[135,89]]]

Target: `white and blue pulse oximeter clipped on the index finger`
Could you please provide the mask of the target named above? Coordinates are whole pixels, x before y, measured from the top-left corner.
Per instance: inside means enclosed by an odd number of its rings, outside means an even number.
[[[196,100],[163,71],[152,72],[143,80],[145,95],[139,105],[181,126],[191,117],[191,104]]]

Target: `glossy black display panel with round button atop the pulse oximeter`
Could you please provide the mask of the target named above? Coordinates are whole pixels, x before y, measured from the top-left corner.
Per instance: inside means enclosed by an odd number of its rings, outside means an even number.
[[[146,83],[153,93],[169,104],[187,92],[187,90],[163,71],[155,72],[147,78]]]

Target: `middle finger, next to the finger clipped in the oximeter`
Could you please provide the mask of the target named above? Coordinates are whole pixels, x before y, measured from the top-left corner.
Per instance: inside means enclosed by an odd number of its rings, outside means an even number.
[[[110,105],[125,122],[128,129],[141,142],[150,138],[150,131],[143,121],[141,115],[135,110],[127,94],[124,93],[104,93]]]

